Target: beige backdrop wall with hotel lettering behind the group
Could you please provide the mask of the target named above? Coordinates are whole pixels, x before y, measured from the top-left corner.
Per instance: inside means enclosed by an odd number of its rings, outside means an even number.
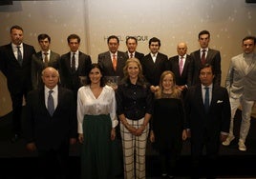
[[[39,50],[37,35],[52,37],[52,50],[67,52],[67,36],[77,33],[80,50],[96,62],[97,54],[107,50],[106,38],[116,34],[120,50],[125,37],[138,36],[138,50],[148,53],[148,40],[159,37],[160,51],[176,55],[177,43],[188,44],[188,53],[199,49],[198,32],[211,32],[210,47],[221,50],[223,81],[229,60],[242,52],[245,35],[256,35],[256,4],[245,0],[55,0],[13,1],[0,7],[0,46],[10,42],[10,28],[23,27],[25,42]],[[6,81],[0,73],[0,116],[11,111]]]

